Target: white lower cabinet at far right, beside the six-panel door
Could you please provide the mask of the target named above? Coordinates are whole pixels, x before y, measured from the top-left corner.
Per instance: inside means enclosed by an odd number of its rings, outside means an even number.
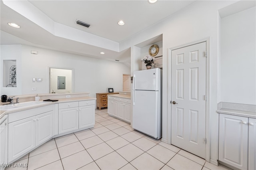
[[[255,169],[255,119],[226,114],[219,119],[219,160],[238,169]]]

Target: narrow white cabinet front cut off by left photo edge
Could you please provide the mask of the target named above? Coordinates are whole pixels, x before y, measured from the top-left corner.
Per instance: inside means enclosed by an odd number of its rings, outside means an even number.
[[[8,160],[8,119],[7,115],[0,119],[0,170],[4,170]]]

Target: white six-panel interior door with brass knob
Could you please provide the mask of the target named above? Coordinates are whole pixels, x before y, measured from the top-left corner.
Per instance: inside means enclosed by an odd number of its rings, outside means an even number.
[[[205,158],[206,42],[172,51],[171,143]],[[176,104],[174,104],[176,103]]]

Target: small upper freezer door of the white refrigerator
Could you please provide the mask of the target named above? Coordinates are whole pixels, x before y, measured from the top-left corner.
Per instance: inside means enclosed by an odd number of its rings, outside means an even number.
[[[158,91],[160,88],[160,69],[134,71],[133,89]]]

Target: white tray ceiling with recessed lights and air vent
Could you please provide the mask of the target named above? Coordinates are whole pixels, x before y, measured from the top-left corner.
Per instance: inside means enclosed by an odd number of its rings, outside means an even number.
[[[0,42],[130,62],[130,49],[120,51],[120,43],[193,2],[158,0],[149,4],[147,0],[0,0]],[[80,26],[76,20],[91,26]],[[119,20],[123,20],[125,25],[119,26]],[[21,28],[11,28],[8,22],[14,22]],[[101,51],[105,54],[101,55]]]

